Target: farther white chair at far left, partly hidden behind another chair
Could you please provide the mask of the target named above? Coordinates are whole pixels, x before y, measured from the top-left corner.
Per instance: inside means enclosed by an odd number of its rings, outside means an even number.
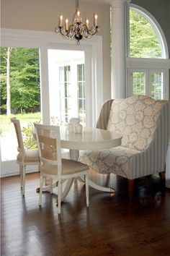
[[[14,124],[14,129],[17,135],[17,142],[18,142],[17,163],[19,163],[20,184],[22,189],[22,195],[24,196],[26,167],[39,166],[40,158],[39,158],[39,153],[37,149],[24,148],[20,121],[16,119],[16,117],[13,117],[11,121]]]

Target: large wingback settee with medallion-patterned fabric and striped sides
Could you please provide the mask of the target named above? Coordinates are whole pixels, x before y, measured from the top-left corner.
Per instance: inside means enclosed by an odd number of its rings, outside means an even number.
[[[82,151],[79,161],[100,174],[128,179],[131,200],[134,179],[156,173],[165,179],[169,119],[169,101],[156,101],[147,95],[108,100],[100,111],[97,128],[120,133],[122,145]]]

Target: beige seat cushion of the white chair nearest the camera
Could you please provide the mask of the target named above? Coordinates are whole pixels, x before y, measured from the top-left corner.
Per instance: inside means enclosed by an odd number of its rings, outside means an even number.
[[[70,159],[62,159],[62,175],[71,175],[71,174],[79,174],[82,171],[86,171],[89,169],[84,163],[80,163],[78,161],[73,161]],[[58,166],[44,163],[40,166],[40,171],[44,174],[55,175],[58,172]]]

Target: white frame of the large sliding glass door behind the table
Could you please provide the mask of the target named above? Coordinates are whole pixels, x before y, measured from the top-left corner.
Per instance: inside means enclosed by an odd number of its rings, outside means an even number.
[[[1,29],[1,47],[40,48],[40,88],[42,122],[50,124],[50,98],[48,86],[48,48],[85,51],[86,113],[88,126],[97,121],[100,106],[103,103],[103,60],[102,36],[94,35],[90,40],[65,40],[52,32],[34,30]],[[1,155],[1,154],[0,154]],[[1,161],[1,159],[0,159]],[[16,161],[1,161],[1,176],[19,174]]]

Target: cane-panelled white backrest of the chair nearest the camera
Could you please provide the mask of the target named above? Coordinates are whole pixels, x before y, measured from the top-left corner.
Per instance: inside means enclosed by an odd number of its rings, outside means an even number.
[[[41,164],[58,166],[61,174],[60,127],[34,123]]]

